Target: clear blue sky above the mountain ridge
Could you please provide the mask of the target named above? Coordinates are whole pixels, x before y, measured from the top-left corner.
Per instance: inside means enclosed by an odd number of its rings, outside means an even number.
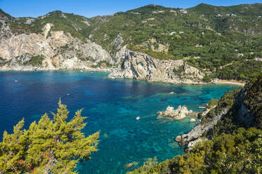
[[[128,11],[148,4],[189,8],[205,3],[215,6],[262,3],[262,0],[0,0],[0,8],[13,17],[38,17],[50,11],[63,11],[93,17]]]

